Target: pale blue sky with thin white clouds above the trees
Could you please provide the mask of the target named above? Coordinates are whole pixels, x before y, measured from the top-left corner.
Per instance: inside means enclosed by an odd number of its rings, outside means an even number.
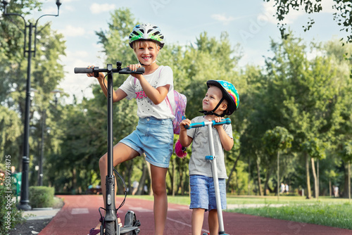
[[[43,13],[57,12],[56,1],[43,2],[42,12],[33,12],[33,18]],[[313,39],[318,42],[340,39],[344,34],[333,20],[332,4],[332,0],[323,0],[323,11],[313,15],[293,11],[285,23],[295,36],[307,42]],[[191,44],[196,42],[202,32],[220,39],[220,34],[227,32],[233,46],[240,44],[243,57],[239,65],[244,66],[263,65],[265,56],[270,56],[270,40],[280,40],[273,5],[273,1],[267,3],[263,0],[62,0],[60,15],[56,18],[41,18],[39,23],[44,25],[51,21],[51,29],[64,35],[67,49],[66,56],[61,57],[61,63],[64,65],[65,78],[59,88],[71,100],[75,94],[80,101],[82,97],[92,97],[89,85],[97,84],[97,81],[86,75],[76,75],[73,70],[88,65],[106,68],[95,32],[108,28],[111,13],[116,9],[129,8],[139,23],[158,25],[165,35],[166,44]],[[304,32],[303,25],[308,22],[308,17],[313,18],[315,24],[308,32]],[[123,58],[121,61],[123,63]],[[114,85],[115,88],[118,86]],[[70,102],[70,99],[66,101]]]

